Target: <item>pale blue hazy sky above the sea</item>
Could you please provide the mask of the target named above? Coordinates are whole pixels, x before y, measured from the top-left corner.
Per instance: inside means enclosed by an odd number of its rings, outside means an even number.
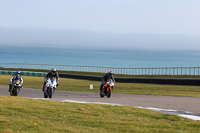
[[[0,44],[200,50],[200,0],[0,0]]]

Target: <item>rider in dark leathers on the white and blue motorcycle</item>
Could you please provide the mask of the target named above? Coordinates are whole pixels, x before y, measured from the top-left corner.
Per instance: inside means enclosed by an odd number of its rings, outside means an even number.
[[[56,72],[55,68],[52,68],[51,71],[44,77],[44,85],[42,87],[42,91],[44,91],[44,87],[45,87],[45,84],[47,82],[47,79],[51,78],[51,77],[56,78],[57,86],[59,85],[59,75],[58,75],[58,72]]]

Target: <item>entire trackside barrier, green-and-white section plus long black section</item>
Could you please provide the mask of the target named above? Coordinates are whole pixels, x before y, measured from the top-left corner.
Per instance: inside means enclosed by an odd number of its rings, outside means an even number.
[[[0,70],[0,75],[7,74],[12,75],[16,71],[4,71]],[[45,76],[47,73],[44,72],[28,72],[22,71],[21,75],[26,76]],[[92,81],[101,81],[100,76],[85,76],[85,75],[74,75],[74,74],[59,74],[60,78],[73,78],[73,79],[84,79]],[[169,85],[193,85],[200,86],[199,78],[119,78],[115,77],[116,82],[120,83],[149,83],[149,84],[169,84]]]

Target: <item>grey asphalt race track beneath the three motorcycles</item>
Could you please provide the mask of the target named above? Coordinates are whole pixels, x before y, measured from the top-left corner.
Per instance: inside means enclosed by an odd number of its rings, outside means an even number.
[[[8,86],[0,86],[0,96],[9,96]],[[42,90],[32,88],[22,88],[18,96],[44,98]],[[99,93],[56,90],[52,100],[141,107],[163,113],[198,116],[200,120],[199,97],[112,94],[111,98],[100,98]]]

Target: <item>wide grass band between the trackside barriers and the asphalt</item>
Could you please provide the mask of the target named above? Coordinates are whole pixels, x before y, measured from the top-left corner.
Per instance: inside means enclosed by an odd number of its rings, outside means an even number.
[[[11,75],[0,75],[0,85],[7,86],[10,77]],[[23,76],[23,79],[25,88],[41,89],[43,86],[43,77]],[[94,89],[89,89],[90,84],[93,84]],[[100,84],[100,81],[60,78],[57,90],[99,93]],[[200,97],[200,86],[116,83],[112,93]]]

